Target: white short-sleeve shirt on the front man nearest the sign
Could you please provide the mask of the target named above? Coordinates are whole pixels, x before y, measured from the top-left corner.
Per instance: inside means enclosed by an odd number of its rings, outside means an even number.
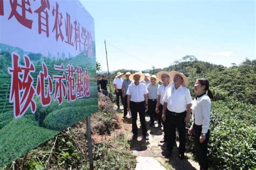
[[[134,82],[132,82],[128,86],[127,95],[131,95],[131,101],[133,102],[143,102],[145,101],[144,95],[149,93],[149,90],[147,90],[146,84],[139,83],[136,85]]]

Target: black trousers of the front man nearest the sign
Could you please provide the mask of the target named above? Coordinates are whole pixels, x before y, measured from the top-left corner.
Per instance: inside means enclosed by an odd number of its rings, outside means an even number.
[[[132,114],[132,133],[138,134],[137,126],[137,116],[139,112],[139,121],[142,125],[142,134],[145,136],[147,134],[146,119],[145,119],[145,101],[143,102],[130,102],[130,109]]]

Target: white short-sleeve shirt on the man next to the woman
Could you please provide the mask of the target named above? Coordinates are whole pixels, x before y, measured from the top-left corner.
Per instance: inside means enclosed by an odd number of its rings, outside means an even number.
[[[183,86],[180,86],[178,89],[173,86],[166,90],[164,102],[167,102],[167,109],[169,111],[177,113],[184,112],[187,109],[187,104],[192,102],[190,90]]]

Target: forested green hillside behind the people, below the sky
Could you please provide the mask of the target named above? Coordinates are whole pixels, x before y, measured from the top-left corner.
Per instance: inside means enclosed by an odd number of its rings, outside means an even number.
[[[139,66],[138,66],[139,68]],[[230,68],[214,65],[205,61],[198,61],[195,56],[186,55],[180,61],[175,61],[163,69],[151,69],[150,74],[157,74],[161,70],[175,70],[185,74],[189,79],[188,88],[192,97],[195,97],[193,86],[196,79],[204,77],[210,81],[210,88],[214,93],[214,100],[225,100],[232,97],[234,100],[245,103],[256,103],[256,60],[245,59],[244,62]],[[119,69],[110,74],[110,81],[117,72],[137,72],[137,70]]]

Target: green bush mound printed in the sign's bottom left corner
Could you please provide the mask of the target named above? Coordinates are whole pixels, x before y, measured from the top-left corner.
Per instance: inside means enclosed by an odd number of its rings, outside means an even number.
[[[29,119],[12,119],[9,124],[0,129],[0,153],[4,155],[4,157],[1,156],[0,167],[21,157],[55,134],[57,131],[40,128]]]

